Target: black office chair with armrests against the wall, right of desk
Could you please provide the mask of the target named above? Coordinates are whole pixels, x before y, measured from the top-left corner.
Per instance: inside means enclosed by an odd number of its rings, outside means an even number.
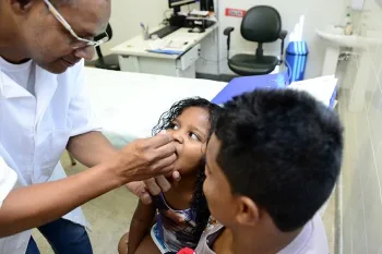
[[[263,75],[271,73],[284,58],[284,40],[288,34],[282,29],[282,17],[276,9],[267,5],[251,8],[241,22],[241,36],[258,43],[255,55],[239,53],[229,58],[230,34],[234,27],[227,27],[224,35],[227,36],[227,56],[229,69],[238,75]],[[264,56],[263,44],[282,39],[280,60],[275,56]]]

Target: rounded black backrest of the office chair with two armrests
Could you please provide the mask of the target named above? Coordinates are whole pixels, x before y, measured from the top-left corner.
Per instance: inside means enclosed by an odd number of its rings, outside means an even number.
[[[253,7],[241,22],[241,36],[250,41],[273,43],[279,38],[280,32],[282,17],[272,7]]]

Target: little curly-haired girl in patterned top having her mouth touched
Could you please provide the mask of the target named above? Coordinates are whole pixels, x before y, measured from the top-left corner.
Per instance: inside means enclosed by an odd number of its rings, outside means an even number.
[[[181,180],[168,192],[153,197],[152,205],[138,204],[128,254],[178,252],[198,245],[210,217],[203,194],[204,155],[218,109],[206,99],[183,99],[172,105],[153,129],[153,135],[162,130],[172,134],[178,156],[175,170]]]

